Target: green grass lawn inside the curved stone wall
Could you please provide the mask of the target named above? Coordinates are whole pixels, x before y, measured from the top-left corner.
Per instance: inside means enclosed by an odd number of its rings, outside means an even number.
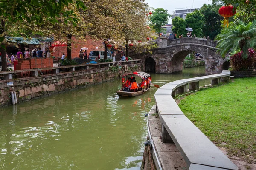
[[[246,88],[247,87],[247,88]],[[179,104],[183,113],[229,155],[256,159],[256,78],[200,90]]]

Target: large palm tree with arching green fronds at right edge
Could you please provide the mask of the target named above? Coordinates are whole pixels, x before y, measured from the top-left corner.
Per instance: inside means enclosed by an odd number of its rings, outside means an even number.
[[[216,39],[217,48],[221,56],[230,51],[233,54],[243,51],[243,59],[248,57],[248,49],[256,48],[256,20],[252,23],[239,22],[238,25],[231,25],[221,30]]]

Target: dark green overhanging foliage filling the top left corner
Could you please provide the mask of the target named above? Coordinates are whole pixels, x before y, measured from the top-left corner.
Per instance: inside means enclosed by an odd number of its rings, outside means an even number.
[[[26,21],[27,23],[35,21],[36,24],[40,24],[44,17],[51,22],[58,22],[55,18],[59,16],[63,8],[67,7],[69,3],[75,3],[76,8],[86,9],[84,3],[80,0],[1,0],[0,43],[2,56],[6,55],[6,41],[4,37],[6,35],[7,22],[12,24],[18,21]],[[66,11],[65,14],[67,19],[73,20],[74,23],[76,22],[76,16],[72,14],[72,11]],[[2,71],[7,71],[6,59],[2,59]]]

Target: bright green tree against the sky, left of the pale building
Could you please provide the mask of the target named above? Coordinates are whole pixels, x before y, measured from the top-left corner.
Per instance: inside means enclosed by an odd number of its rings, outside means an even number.
[[[168,18],[171,17],[171,15],[163,8],[156,8],[152,13],[150,17],[152,23],[151,27],[160,34],[163,31],[161,27],[168,24]]]

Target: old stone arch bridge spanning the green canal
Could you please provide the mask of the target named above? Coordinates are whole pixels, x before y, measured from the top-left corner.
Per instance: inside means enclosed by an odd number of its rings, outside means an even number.
[[[217,42],[203,38],[180,38],[160,42],[153,54],[143,54],[144,71],[156,73],[175,73],[182,71],[183,61],[191,52],[199,53],[204,59],[206,74],[221,73],[227,59],[223,59],[216,51]]]

